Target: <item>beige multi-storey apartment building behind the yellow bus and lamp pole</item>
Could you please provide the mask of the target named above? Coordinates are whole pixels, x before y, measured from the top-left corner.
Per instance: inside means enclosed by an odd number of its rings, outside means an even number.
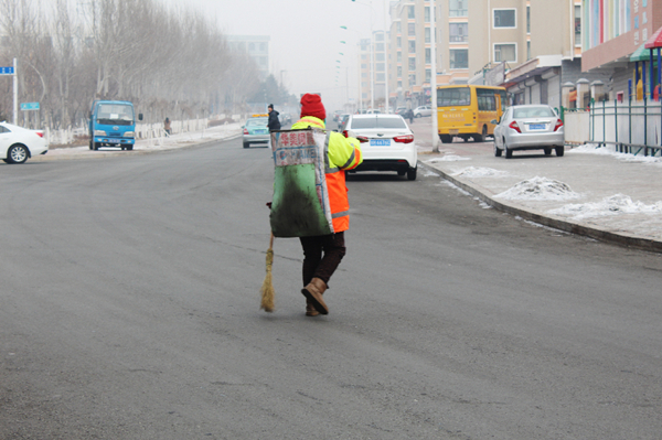
[[[581,74],[581,3],[436,0],[437,84],[504,85],[513,101],[558,105],[562,84]],[[430,7],[430,0],[391,3],[389,87],[398,103],[429,101]]]

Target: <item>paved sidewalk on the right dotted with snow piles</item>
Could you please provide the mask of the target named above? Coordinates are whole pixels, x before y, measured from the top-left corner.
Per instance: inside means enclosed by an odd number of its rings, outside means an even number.
[[[515,151],[496,158],[488,142],[439,143],[430,118],[410,125],[423,169],[490,206],[526,221],[645,250],[662,251],[662,158],[583,146],[557,158]]]

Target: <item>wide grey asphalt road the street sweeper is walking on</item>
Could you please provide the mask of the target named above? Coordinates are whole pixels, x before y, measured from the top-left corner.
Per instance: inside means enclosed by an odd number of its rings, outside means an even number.
[[[0,439],[660,438],[660,255],[355,174],[331,313],[277,239],[267,314],[271,182],[241,139],[0,165]]]

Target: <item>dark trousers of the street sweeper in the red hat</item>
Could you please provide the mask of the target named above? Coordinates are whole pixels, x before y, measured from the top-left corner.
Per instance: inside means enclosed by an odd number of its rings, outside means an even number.
[[[329,286],[329,279],[345,255],[344,232],[299,239],[303,248],[303,286],[313,278]]]

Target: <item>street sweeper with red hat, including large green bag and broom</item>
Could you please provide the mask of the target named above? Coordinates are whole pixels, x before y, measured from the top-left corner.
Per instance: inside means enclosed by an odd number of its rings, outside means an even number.
[[[301,97],[301,118],[291,130],[271,135],[276,163],[271,233],[301,242],[301,293],[308,316],[329,313],[323,294],[345,255],[344,232],[350,227],[345,170],[355,169],[363,160],[359,140],[325,130],[325,118],[320,96],[306,94]],[[267,272],[270,276],[270,266]],[[263,309],[270,311],[273,303],[265,307],[265,287]]]

